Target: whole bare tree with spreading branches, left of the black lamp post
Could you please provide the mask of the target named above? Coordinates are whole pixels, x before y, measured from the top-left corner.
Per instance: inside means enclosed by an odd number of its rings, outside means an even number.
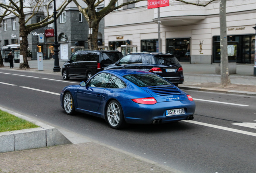
[[[51,24],[54,22],[54,19],[52,16],[54,14],[49,14],[49,6],[53,2],[53,0],[50,0],[49,2],[45,0],[31,0],[30,4],[28,3],[29,1],[24,1],[24,0],[9,0],[10,4],[3,4],[0,3],[0,7],[4,8],[5,10],[8,10],[15,16],[19,18],[19,25],[20,25],[20,54],[23,55],[23,63],[20,63],[21,69],[29,69],[29,64],[27,61],[27,48],[28,48],[28,34],[38,28],[42,28],[47,26],[48,24]],[[58,13],[56,17],[58,18],[60,14],[65,10],[66,6],[71,2],[72,0],[63,0],[62,4],[60,7],[57,9]],[[43,10],[43,8],[46,8],[47,16],[33,24],[28,24],[29,20],[33,18],[37,14],[37,12]],[[25,14],[25,10],[29,10],[30,13],[29,15]],[[26,16],[27,15],[27,16]],[[26,17],[26,18],[25,18]],[[52,18],[52,19],[51,19]]]

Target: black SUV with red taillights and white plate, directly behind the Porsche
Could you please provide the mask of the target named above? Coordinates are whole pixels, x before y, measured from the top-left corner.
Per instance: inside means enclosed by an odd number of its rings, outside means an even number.
[[[147,70],[162,76],[176,86],[184,82],[183,69],[177,58],[169,53],[132,52],[123,56],[116,64],[104,70],[115,68],[136,68]]]

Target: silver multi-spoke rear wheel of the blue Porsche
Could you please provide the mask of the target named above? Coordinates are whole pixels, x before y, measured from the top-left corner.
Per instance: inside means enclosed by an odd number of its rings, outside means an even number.
[[[107,122],[113,129],[120,129],[125,125],[122,107],[117,101],[111,101],[107,106]]]

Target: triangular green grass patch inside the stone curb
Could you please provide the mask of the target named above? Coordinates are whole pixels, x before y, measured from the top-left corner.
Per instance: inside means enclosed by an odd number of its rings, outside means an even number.
[[[0,132],[39,127],[29,121],[0,110]]]

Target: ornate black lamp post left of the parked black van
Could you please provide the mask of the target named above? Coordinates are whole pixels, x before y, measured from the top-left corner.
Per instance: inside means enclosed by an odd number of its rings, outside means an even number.
[[[57,35],[57,21],[56,21],[56,2],[54,0],[54,72],[60,72],[60,65],[59,65],[59,46],[58,43],[58,35]]]

